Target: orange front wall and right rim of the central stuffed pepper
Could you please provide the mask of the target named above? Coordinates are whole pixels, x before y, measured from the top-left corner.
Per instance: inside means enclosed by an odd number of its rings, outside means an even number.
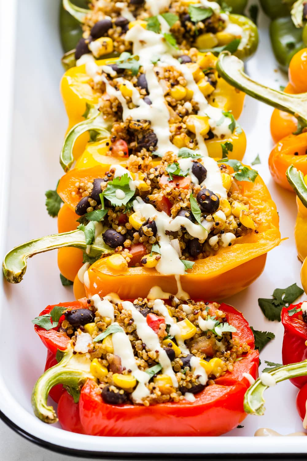
[[[260,210],[258,233],[239,237],[235,245],[195,261],[192,269],[180,278],[183,290],[195,298],[201,298],[206,293],[210,299],[223,299],[243,290],[259,277],[266,253],[280,242],[278,213],[261,177],[257,176],[255,183],[239,182],[239,187],[252,206]],[[71,197],[71,206],[75,207],[76,203],[76,199]],[[177,292],[174,275],[161,275],[155,269],[144,266],[115,271],[108,266],[107,258],[96,261],[89,268],[88,276],[88,296],[94,293],[104,296],[114,291],[122,298],[146,297],[153,285],[173,294]]]

